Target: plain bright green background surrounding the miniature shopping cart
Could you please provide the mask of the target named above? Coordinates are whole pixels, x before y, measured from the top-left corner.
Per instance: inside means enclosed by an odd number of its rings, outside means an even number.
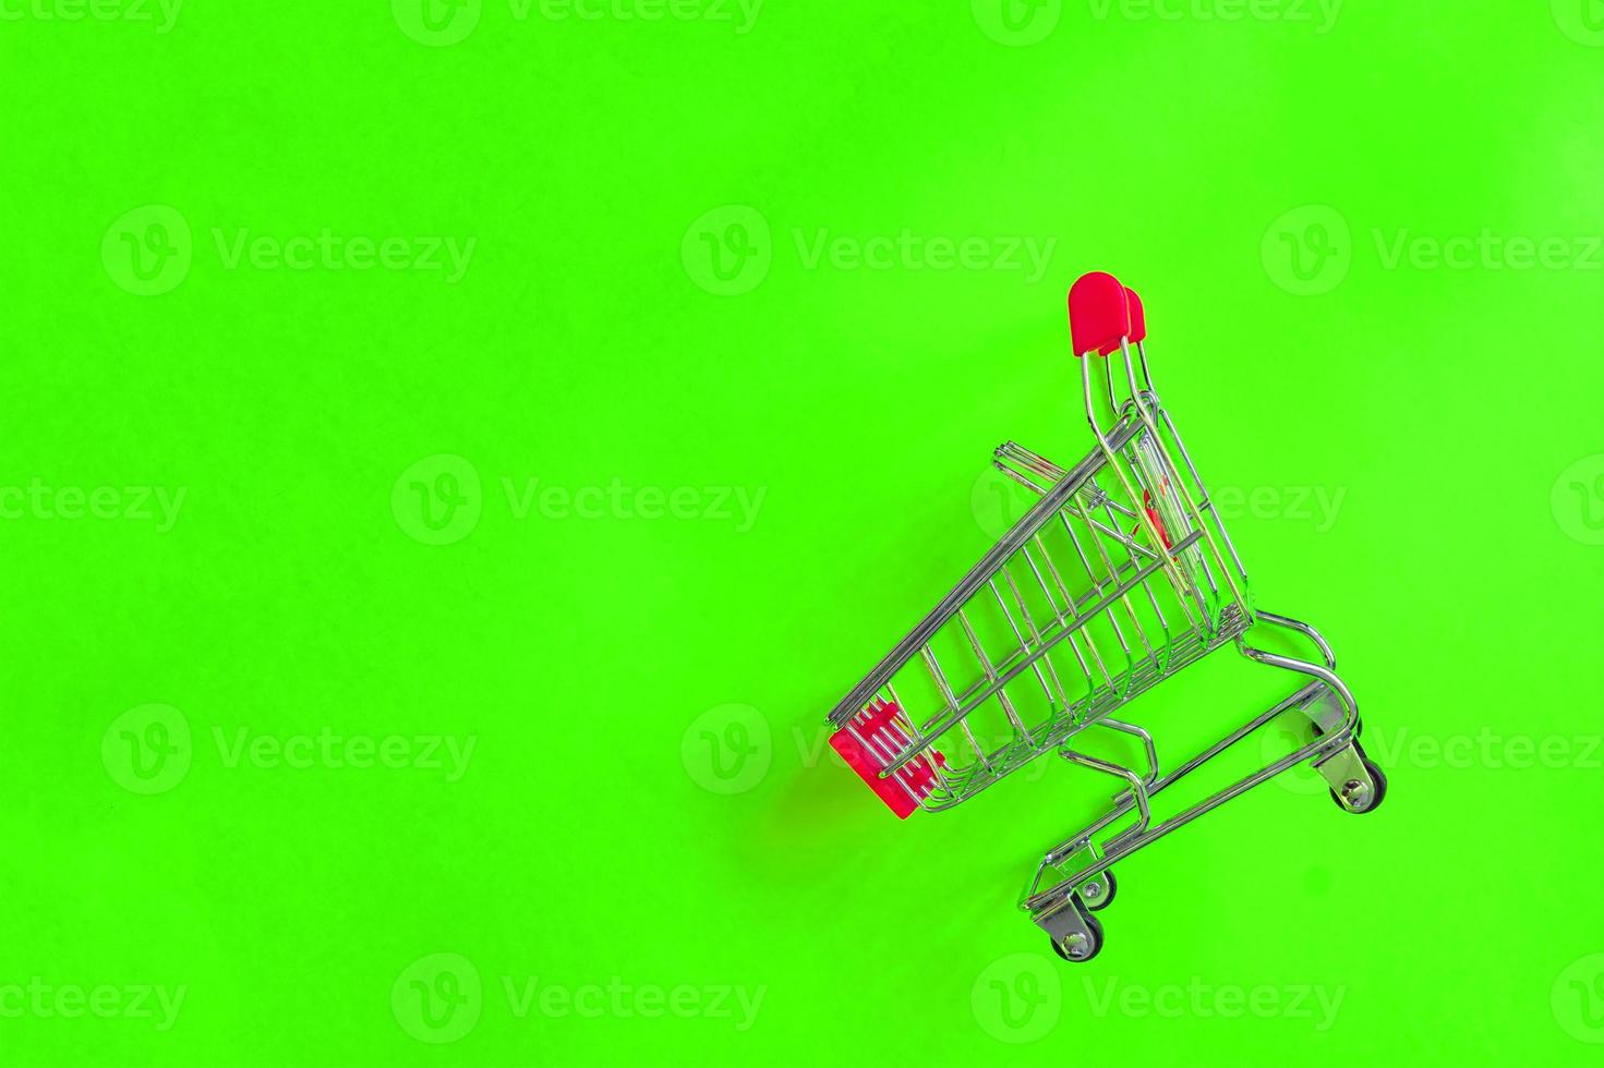
[[[29,3],[0,1060],[1596,1058],[1598,5],[486,0],[431,35],[406,0]],[[454,282],[273,258],[326,229],[475,244]],[[1559,244],[1431,260],[1484,231]],[[130,239],[173,252],[149,284]],[[1391,795],[1251,792],[1124,863],[1071,967],[1014,901],[1107,783],[1033,765],[898,824],[820,754],[1001,529],[991,446],[1089,447],[1062,300],[1099,268]],[[1161,755],[1282,685],[1190,675],[1129,712]],[[460,775],[428,738],[472,739]]]

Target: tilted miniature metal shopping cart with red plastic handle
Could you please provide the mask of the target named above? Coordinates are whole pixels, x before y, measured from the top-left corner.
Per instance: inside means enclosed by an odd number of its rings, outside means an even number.
[[[1113,900],[1120,860],[1304,762],[1351,813],[1373,811],[1386,778],[1359,744],[1359,710],[1327,641],[1248,598],[1237,550],[1153,390],[1142,301],[1112,274],[1086,274],[1070,289],[1070,334],[1097,446],[1068,470],[1014,443],[998,447],[994,467],[1039,499],[829,720],[831,746],[901,818],[959,805],[1051,752],[1116,778],[1108,811],[1051,850],[1020,896],[1059,956],[1089,961],[1104,941],[1092,912]],[[1318,661],[1254,648],[1266,624],[1312,645]],[[1163,771],[1153,736],[1115,714],[1230,641],[1294,674],[1298,688]],[[1282,714],[1307,720],[1306,744],[1153,823],[1153,795]],[[1136,739],[1126,746],[1140,750],[1139,767],[1084,752],[1107,731]]]

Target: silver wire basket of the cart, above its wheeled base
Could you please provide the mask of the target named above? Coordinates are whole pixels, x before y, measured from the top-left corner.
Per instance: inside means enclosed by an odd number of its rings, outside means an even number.
[[[1121,343],[1118,375],[1113,358],[1079,362],[1097,447],[1063,470],[999,446],[993,465],[1039,500],[829,715],[876,752],[882,778],[940,754],[927,810],[1068,752],[1091,726],[1137,731],[1108,717],[1254,622],[1241,561],[1144,346]],[[850,720],[877,701],[898,715],[866,738]]]

